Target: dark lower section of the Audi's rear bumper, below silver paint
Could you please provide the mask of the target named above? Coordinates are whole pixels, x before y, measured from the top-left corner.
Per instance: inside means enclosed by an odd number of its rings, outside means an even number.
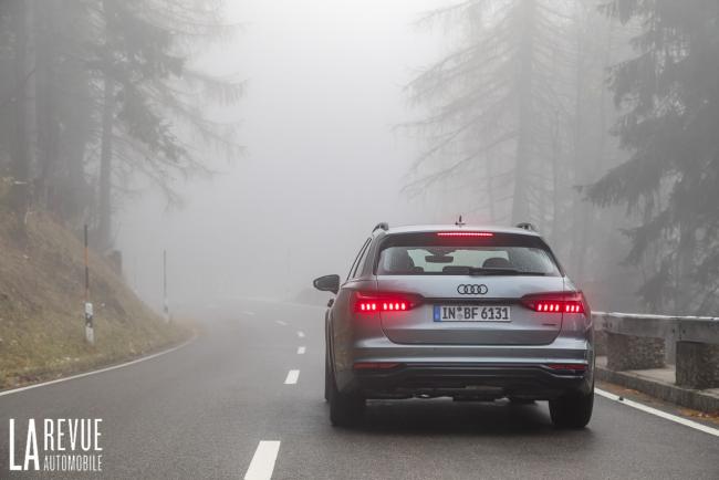
[[[591,392],[593,364],[585,365],[585,372],[556,372],[530,363],[404,363],[390,369],[354,371],[343,390],[366,398],[552,399],[570,392]]]

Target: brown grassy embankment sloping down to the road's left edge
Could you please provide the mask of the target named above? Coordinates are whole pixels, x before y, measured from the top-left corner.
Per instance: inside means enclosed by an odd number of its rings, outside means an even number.
[[[91,252],[95,345],[88,345],[81,241],[42,212],[29,217],[22,239],[12,221],[0,209],[0,389],[117,363],[189,337],[189,328],[166,324]]]

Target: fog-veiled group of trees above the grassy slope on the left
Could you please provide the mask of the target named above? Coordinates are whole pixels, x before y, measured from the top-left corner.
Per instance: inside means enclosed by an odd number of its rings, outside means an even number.
[[[236,102],[241,82],[191,65],[201,46],[235,30],[221,8],[221,0],[1,2],[2,204],[21,220],[39,208],[74,227],[90,222],[104,250],[116,200],[133,181],[148,178],[177,202],[176,177],[209,173],[202,147],[239,155],[232,125],[213,122],[207,105]]]

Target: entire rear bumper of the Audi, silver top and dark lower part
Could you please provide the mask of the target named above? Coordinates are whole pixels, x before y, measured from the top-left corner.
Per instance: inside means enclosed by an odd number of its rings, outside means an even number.
[[[337,351],[334,371],[342,392],[367,398],[450,396],[458,399],[523,397],[552,399],[588,393],[594,383],[594,347],[586,337],[560,335],[549,345],[398,345],[364,338]],[[344,355],[342,355],[344,353]],[[357,363],[395,363],[390,369],[356,369]],[[550,365],[582,364],[584,372]]]

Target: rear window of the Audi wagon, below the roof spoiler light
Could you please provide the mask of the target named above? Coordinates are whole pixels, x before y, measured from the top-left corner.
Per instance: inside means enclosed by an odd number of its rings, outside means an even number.
[[[378,275],[534,274],[558,276],[559,265],[539,237],[440,237],[437,232],[385,238]]]

